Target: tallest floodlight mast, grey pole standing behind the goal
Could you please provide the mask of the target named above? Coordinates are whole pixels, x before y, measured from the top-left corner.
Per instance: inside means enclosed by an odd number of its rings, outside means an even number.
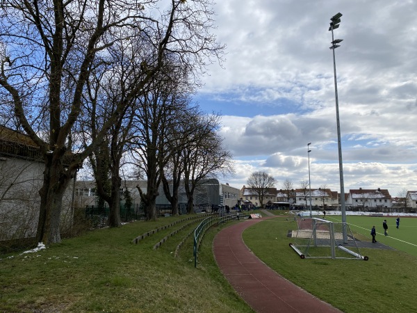
[[[341,181],[341,212],[342,212],[342,223],[346,223],[346,206],[345,206],[345,184],[343,182],[343,161],[342,161],[342,142],[341,142],[341,122],[339,120],[338,112],[338,95],[337,95],[337,79],[336,79],[336,57],[334,55],[334,49],[340,47],[338,45],[343,39],[334,39],[333,30],[338,29],[339,23],[341,22],[342,13],[334,15],[330,21],[329,31],[332,31],[332,47],[333,51],[333,70],[334,70],[334,95],[336,97],[336,123],[337,123],[337,144],[338,144],[338,157],[339,157],[339,177]],[[346,229],[343,227],[343,242],[347,243]]]

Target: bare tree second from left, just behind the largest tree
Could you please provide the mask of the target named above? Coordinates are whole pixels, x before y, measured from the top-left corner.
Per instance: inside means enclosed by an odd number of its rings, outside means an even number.
[[[84,115],[88,118],[80,123],[80,134],[83,144],[87,147],[88,142],[99,134],[117,107],[124,106],[124,110],[114,118],[104,141],[88,156],[99,200],[108,203],[108,225],[118,227],[121,225],[120,168],[123,166],[122,157],[126,153],[127,143],[133,136],[133,101],[138,93],[142,92],[136,89],[136,83],[143,79],[145,74],[137,70],[137,56],[129,47],[116,42],[109,51],[115,59],[122,62],[117,67],[101,64],[92,72],[86,84],[88,93],[83,107]]]

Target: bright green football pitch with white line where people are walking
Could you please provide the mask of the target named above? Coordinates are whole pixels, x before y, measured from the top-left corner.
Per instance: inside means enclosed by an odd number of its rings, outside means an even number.
[[[321,216],[320,216],[321,217]],[[370,229],[375,225],[377,236],[375,239],[386,246],[401,250],[417,257],[417,218],[400,216],[400,227],[395,227],[397,216],[346,216],[353,233],[359,233],[368,237],[371,241]],[[327,220],[341,222],[341,216],[326,216]],[[388,225],[388,236],[384,236],[382,222],[386,219]]]

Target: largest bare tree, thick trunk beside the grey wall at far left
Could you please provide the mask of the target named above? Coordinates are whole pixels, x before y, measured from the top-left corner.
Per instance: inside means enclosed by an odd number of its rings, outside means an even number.
[[[172,0],[155,10],[157,0],[88,1],[5,0],[0,8],[0,93],[19,125],[44,159],[43,186],[36,241],[60,241],[63,193],[81,162],[102,143],[129,102],[120,102],[87,147],[73,146],[72,129],[81,116],[86,82],[109,58],[116,42],[131,45],[131,36],[149,42],[150,58],[142,60],[144,76],[138,93],[160,72],[166,56],[179,67],[204,66],[222,50],[210,33],[211,0]],[[156,16],[160,12],[161,15]],[[146,15],[148,13],[148,15]],[[148,48],[149,46],[147,46]],[[7,110],[5,110],[7,111]],[[75,149],[77,154],[70,154]]]

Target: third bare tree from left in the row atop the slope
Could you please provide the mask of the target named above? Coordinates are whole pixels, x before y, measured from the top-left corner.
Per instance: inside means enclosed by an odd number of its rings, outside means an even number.
[[[132,150],[136,165],[147,177],[146,193],[137,186],[140,198],[147,207],[147,218],[156,219],[156,197],[163,178],[163,168],[170,160],[169,134],[177,129],[177,113],[184,111],[184,102],[177,84],[172,81],[155,81],[147,93],[138,98],[134,124],[136,134]]]

